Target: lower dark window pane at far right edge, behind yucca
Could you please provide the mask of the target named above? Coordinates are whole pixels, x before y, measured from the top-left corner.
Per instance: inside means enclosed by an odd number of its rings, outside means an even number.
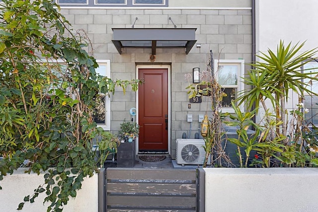
[[[309,109],[305,113],[305,121],[307,124],[318,126],[318,96],[305,96],[304,106]]]

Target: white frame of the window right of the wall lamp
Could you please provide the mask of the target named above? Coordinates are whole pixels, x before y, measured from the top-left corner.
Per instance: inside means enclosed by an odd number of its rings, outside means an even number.
[[[238,77],[238,84],[236,86],[234,85],[222,85],[223,88],[237,88],[237,93],[236,96],[237,98],[239,97],[239,92],[244,89],[244,83],[241,79],[244,74],[244,60],[214,60],[214,72],[217,81],[219,81],[219,76],[218,76],[218,67],[219,66],[237,66],[238,67],[238,72],[237,72],[237,77]],[[236,99],[237,99],[236,98]],[[239,109],[244,112],[244,104],[241,104],[239,106]],[[221,107],[222,112],[224,113],[234,113],[234,109],[232,107]]]

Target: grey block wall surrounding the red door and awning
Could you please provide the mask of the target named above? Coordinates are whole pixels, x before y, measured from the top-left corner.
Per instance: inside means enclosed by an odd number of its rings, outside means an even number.
[[[198,115],[210,108],[206,97],[201,104],[192,103],[188,109],[185,73],[200,67],[206,70],[210,50],[214,59],[242,58],[250,63],[252,58],[251,9],[213,8],[62,8],[62,14],[72,23],[73,29],[83,29],[92,42],[96,59],[110,60],[111,78],[136,77],[137,65],[171,66],[171,156],[175,158],[175,140],[190,129],[187,114],[193,115],[192,133],[198,132]],[[172,28],[169,17],[178,28],[197,28],[196,44],[188,55],[184,49],[157,49],[156,61],[150,62],[151,49],[125,49],[120,55],[113,43],[112,28]],[[91,49],[88,49],[91,51]],[[249,67],[245,66],[245,69]],[[111,131],[116,133],[124,119],[130,120],[129,109],[136,107],[134,92],[115,93],[111,98]]]

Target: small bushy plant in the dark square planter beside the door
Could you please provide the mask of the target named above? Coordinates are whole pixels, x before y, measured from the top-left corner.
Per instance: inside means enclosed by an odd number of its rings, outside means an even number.
[[[132,142],[139,135],[140,126],[136,122],[126,122],[120,124],[120,131],[118,132],[121,141]]]

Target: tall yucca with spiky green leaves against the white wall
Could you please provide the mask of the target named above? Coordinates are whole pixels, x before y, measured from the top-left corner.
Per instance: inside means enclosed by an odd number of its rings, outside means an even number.
[[[283,41],[277,46],[276,54],[268,49],[267,53],[256,55],[261,61],[250,64],[253,69],[248,72],[248,76],[243,78],[246,85],[250,85],[251,89],[244,90],[239,97],[239,104],[243,102],[247,109],[251,109],[253,105],[256,109],[259,103],[262,104],[264,110],[267,110],[265,99],[269,99],[275,109],[276,121],[282,121],[281,125],[276,127],[276,134],[272,129],[271,136],[274,139],[275,135],[287,136],[286,123],[286,107],[288,100],[289,89],[298,93],[300,97],[304,97],[304,92],[317,95],[306,88],[307,84],[304,79],[317,80],[310,72],[301,71],[301,67],[314,60],[317,48],[301,51],[305,42],[297,43],[292,46],[289,43],[286,47]],[[309,60],[310,59],[310,60]],[[315,73],[314,73],[315,74]],[[266,117],[267,122],[270,122],[270,117]],[[283,140],[287,143],[287,139]]]

